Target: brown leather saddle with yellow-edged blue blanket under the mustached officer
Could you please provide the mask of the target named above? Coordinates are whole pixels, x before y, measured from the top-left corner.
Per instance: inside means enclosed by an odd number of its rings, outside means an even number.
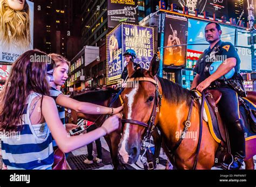
[[[201,96],[198,91],[194,91],[194,95]],[[203,118],[208,123],[210,133],[213,139],[219,143],[219,147],[215,153],[215,159],[223,160],[223,162],[231,162],[232,155],[230,153],[230,145],[227,140],[228,133],[224,126],[224,120],[221,119],[218,103],[221,99],[221,92],[219,90],[205,91],[205,104]],[[201,100],[199,99],[201,104]],[[248,136],[253,136],[255,131],[255,111],[256,111],[256,92],[248,92],[247,97],[239,99],[240,116],[245,121],[245,133]],[[245,120],[246,119],[246,120]],[[251,131],[250,131],[251,130]],[[253,131],[254,130],[254,131]],[[221,167],[219,162],[215,163],[215,167]]]

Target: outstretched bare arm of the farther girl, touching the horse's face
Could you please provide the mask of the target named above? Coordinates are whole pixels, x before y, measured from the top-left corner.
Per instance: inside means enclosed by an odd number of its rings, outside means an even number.
[[[75,99],[66,97],[63,94],[60,94],[57,97],[56,103],[68,109],[73,109],[77,112],[82,112],[86,114],[111,114],[112,113],[112,109],[109,107],[100,106],[92,103],[79,102]],[[113,108],[113,114],[119,113],[121,110],[123,110],[123,106],[120,106],[118,108]]]

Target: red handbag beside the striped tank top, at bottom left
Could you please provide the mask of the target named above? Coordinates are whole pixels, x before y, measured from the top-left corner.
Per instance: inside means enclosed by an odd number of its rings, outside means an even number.
[[[57,148],[54,152],[54,162],[52,165],[53,170],[71,170],[69,163],[66,161],[66,156]]]

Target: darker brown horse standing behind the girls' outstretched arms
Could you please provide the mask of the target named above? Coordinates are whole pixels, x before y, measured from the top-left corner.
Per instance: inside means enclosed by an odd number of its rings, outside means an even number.
[[[112,99],[116,97],[117,93],[118,93],[117,90],[108,88],[106,90],[87,91],[83,94],[71,96],[71,97],[80,102],[89,102],[89,103],[93,103],[101,106],[109,106]],[[121,105],[122,103],[120,101],[120,98],[118,97],[118,99],[113,103],[111,107],[119,107]],[[75,110],[71,110],[70,115],[66,113],[66,123],[77,124],[79,119],[93,121],[95,122],[96,126],[99,127],[104,123],[106,116],[84,114],[84,113],[76,112]],[[110,155],[111,155],[114,170],[126,168],[124,164],[119,163],[119,159],[118,159],[118,144],[121,139],[121,127],[122,125],[120,124],[118,130],[113,131],[112,133],[104,136],[107,142],[107,145],[109,146],[109,149],[110,149]],[[153,138],[154,138],[154,145],[155,145],[154,159],[156,160],[156,158],[160,154],[160,148],[161,148],[160,147],[161,139],[157,131],[154,131]]]

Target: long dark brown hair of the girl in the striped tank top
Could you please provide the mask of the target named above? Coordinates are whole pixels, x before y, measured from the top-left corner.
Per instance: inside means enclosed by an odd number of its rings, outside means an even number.
[[[12,65],[8,81],[0,94],[0,131],[18,131],[31,91],[50,95],[46,80],[47,57],[41,51],[30,50],[19,56]]]

